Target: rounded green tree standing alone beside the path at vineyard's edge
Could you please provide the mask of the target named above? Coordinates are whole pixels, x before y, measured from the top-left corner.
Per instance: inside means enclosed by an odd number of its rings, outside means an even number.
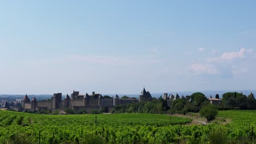
[[[212,104],[209,104],[205,107],[203,107],[200,111],[200,116],[205,117],[207,119],[207,122],[210,122],[212,119],[214,119],[218,114],[218,107]]]

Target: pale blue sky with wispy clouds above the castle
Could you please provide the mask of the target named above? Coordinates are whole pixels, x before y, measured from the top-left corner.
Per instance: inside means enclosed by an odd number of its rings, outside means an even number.
[[[0,94],[256,89],[256,1],[1,1]]]

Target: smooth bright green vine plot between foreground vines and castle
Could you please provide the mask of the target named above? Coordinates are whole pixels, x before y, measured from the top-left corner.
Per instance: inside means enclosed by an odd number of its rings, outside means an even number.
[[[157,114],[120,113],[98,115],[36,115],[0,111],[0,125],[174,125],[190,123],[191,119]]]

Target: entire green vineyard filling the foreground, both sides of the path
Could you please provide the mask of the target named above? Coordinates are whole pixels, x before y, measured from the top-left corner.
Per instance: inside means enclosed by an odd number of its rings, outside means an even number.
[[[0,111],[0,143],[255,143],[256,111],[219,111],[226,125],[166,115],[36,115]]]

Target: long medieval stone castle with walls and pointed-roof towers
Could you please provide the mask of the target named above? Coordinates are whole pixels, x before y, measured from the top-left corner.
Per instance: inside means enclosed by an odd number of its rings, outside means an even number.
[[[62,93],[55,93],[53,97],[48,100],[37,101],[34,97],[30,100],[27,95],[25,95],[22,100],[22,107],[24,110],[38,111],[38,110],[56,110],[56,109],[86,109],[91,110],[100,110],[101,107],[108,107],[112,109],[113,106],[123,105],[129,103],[138,103],[141,101],[151,101],[152,96],[149,92],[143,88],[139,99],[122,99],[116,95],[114,98],[104,98],[101,94],[95,94],[92,92],[92,95],[86,93],[85,95],[79,94],[79,92],[73,91],[71,98],[67,94],[65,99],[62,100]]]

